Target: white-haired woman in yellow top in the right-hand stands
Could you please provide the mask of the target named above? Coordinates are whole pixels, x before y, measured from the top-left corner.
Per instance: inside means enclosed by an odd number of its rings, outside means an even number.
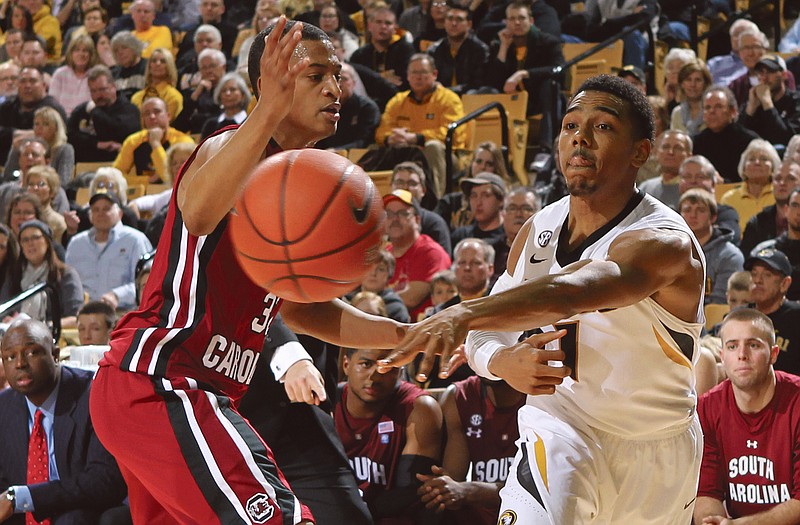
[[[775,147],[763,139],[754,139],[739,159],[742,183],[728,190],[720,203],[733,206],[739,213],[739,226],[744,231],[747,221],[766,206],[775,204],[772,177],[781,169],[781,158]]]

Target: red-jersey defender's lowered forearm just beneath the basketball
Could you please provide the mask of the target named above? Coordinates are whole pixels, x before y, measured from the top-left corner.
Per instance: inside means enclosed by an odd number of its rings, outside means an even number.
[[[409,326],[362,312],[339,299],[309,304],[284,301],[281,315],[295,333],[345,348],[394,348]]]

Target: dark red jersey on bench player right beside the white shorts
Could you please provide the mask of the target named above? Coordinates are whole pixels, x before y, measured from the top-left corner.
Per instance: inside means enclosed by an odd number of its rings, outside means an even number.
[[[467,437],[470,481],[505,482],[517,453],[517,411],[525,404],[525,397],[520,396],[519,403],[513,407],[497,408],[486,395],[486,386],[480,377],[472,376],[453,384],[458,418]],[[461,522],[494,525],[499,511],[499,506],[496,509],[470,507],[461,511]]]

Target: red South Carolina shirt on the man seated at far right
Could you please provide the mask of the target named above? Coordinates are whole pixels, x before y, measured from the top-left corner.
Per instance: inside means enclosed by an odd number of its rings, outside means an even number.
[[[800,499],[800,377],[775,377],[775,395],[757,414],[739,410],[730,380],[698,402],[705,445],[697,495],[724,501],[733,518]]]

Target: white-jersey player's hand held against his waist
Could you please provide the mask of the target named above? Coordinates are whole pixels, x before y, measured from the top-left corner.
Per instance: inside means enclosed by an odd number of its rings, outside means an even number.
[[[566,366],[548,364],[549,361],[563,361],[565,355],[561,350],[545,350],[544,345],[561,339],[566,333],[566,330],[558,330],[536,334],[498,350],[489,360],[489,372],[524,394],[552,394],[556,385],[572,371]]]

